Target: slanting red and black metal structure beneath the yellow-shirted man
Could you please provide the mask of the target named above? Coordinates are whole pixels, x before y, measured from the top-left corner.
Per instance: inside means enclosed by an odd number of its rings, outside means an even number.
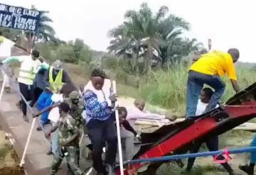
[[[142,134],[142,144],[145,146],[141,147],[134,159],[181,154],[193,146],[193,141],[203,142],[206,137],[220,135],[245,123],[256,116],[255,97],[256,83],[235,94],[223,108]],[[124,174],[133,175],[142,166],[149,166],[146,174],[154,174],[162,163],[129,164]]]

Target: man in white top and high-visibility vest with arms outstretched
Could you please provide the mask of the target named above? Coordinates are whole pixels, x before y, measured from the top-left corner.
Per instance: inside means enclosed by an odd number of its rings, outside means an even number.
[[[38,69],[41,67],[48,69],[49,67],[46,62],[43,62],[43,60],[39,58],[39,54],[40,53],[37,50],[33,50],[31,55],[7,57],[5,60],[0,62],[0,64],[7,64],[13,61],[21,62],[21,68],[18,73],[18,85],[21,94],[26,101],[31,101],[33,98],[33,80],[36,77]],[[26,107],[26,102],[23,98],[21,98],[23,120],[28,122],[28,117],[26,116]]]

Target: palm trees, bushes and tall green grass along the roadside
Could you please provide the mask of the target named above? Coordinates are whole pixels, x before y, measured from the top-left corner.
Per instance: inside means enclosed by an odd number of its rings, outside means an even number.
[[[186,32],[193,24],[171,13],[167,6],[161,6],[154,12],[144,3],[138,10],[127,11],[119,26],[106,31],[111,41],[108,52],[101,52],[92,50],[80,38],[68,42],[56,38],[49,16],[50,13],[43,13],[37,35],[6,28],[0,28],[0,31],[25,48],[32,45],[26,45],[26,40],[36,40],[35,47],[41,55],[48,62],[57,59],[65,62],[65,69],[73,79],[80,75],[86,81],[93,67],[102,67],[112,79],[117,79],[119,96],[144,98],[147,103],[183,116],[186,80],[192,57],[206,49],[196,38],[186,38]],[[256,81],[254,67],[254,64],[238,63],[238,83],[242,88]],[[229,80],[223,80],[227,86],[221,102],[225,103],[234,91]],[[238,147],[238,143],[243,145],[242,140],[250,141],[251,137],[247,132],[227,132],[220,137],[221,147]],[[227,142],[226,138],[234,142]],[[6,154],[3,150],[0,149],[0,159]],[[179,174],[180,171],[171,164],[162,166],[159,174]],[[220,169],[215,164],[204,164],[196,166],[191,174],[206,174],[209,171],[218,174]]]

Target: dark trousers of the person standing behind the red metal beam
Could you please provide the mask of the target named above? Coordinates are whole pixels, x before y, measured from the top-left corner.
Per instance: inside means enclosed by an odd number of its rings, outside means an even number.
[[[202,142],[195,142],[194,143],[194,147],[193,149],[191,149],[189,152],[190,153],[196,153],[199,151],[199,148],[201,147],[203,143]],[[216,137],[212,137],[210,138],[209,140],[206,140],[206,146],[208,147],[209,151],[210,152],[214,152],[214,151],[218,151],[218,136]],[[225,159],[225,157],[223,157],[223,155],[219,155],[217,157],[218,160],[223,160]],[[191,171],[192,167],[193,167],[193,164],[196,160],[196,157],[194,158],[188,158],[188,165],[187,165],[187,170],[188,171]],[[224,169],[226,169],[228,172],[230,171],[233,171],[231,166],[228,164],[228,163],[224,163],[224,164],[221,164]]]

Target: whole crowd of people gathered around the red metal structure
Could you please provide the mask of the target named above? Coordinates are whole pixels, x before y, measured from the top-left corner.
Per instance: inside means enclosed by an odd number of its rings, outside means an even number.
[[[228,52],[202,52],[193,60],[188,71],[186,118],[191,119],[218,107],[225,91],[225,84],[220,79],[224,74],[228,74],[235,92],[240,91],[234,65],[239,56],[239,51],[233,48]],[[31,55],[7,57],[1,64],[13,61],[21,62],[17,79],[21,101],[17,106],[23,112],[23,119],[28,122],[27,105],[33,107],[36,104],[40,112],[34,117],[41,115],[41,125],[37,130],[43,130],[46,137],[50,138],[51,147],[48,154],[54,155],[50,174],[57,173],[64,157],[67,159],[69,171],[73,174],[85,174],[79,166],[79,142],[82,132],[90,138],[96,174],[115,174],[117,123],[114,111],[117,94],[114,94],[112,81],[105,72],[100,68],[92,69],[90,81],[78,90],[60,60],[49,65],[41,59],[37,50],[33,50]],[[205,84],[210,88],[203,87]],[[132,108],[118,108],[124,160],[132,159],[136,153],[134,139],[140,140],[139,133],[134,130],[135,120],[142,118],[169,123],[164,115],[143,112],[144,106],[144,101],[137,99]],[[52,128],[45,131],[44,126],[47,124],[52,125]],[[198,152],[201,144],[202,142],[195,142],[190,152]],[[210,151],[218,150],[218,137],[206,140],[206,145]],[[103,147],[107,149],[104,161]],[[219,156],[218,159],[224,157]],[[188,159],[187,171],[191,171],[194,161],[195,159]],[[234,174],[228,163],[222,165],[230,175]],[[240,169],[252,175],[254,166],[255,155],[252,154],[250,165],[242,165]]]

